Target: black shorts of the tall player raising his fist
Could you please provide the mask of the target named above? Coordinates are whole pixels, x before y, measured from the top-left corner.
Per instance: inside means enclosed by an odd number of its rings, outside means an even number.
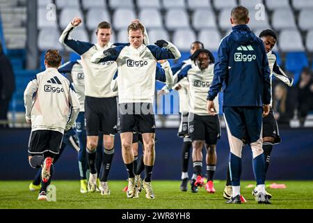
[[[118,104],[116,97],[85,99],[86,132],[88,136],[116,133]]]

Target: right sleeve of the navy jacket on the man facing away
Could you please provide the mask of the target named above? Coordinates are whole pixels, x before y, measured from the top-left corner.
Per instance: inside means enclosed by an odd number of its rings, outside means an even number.
[[[271,104],[271,70],[268,66],[268,59],[264,47],[264,43],[261,41],[260,42],[261,46],[261,53],[262,53],[262,77],[263,77],[263,104],[264,105],[269,105]]]

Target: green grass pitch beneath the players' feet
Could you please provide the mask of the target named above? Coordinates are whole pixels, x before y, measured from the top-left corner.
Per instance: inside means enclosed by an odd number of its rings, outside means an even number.
[[[223,199],[225,181],[215,183],[216,193],[208,194],[204,187],[198,193],[191,193],[188,185],[187,192],[179,190],[180,181],[154,180],[152,185],[156,199],[147,200],[145,192],[141,192],[138,199],[127,199],[122,189],[127,181],[110,181],[111,195],[102,196],[99,192],[81,194],[79,181],[55,180],[56,202],[38,201],[38,192],[29,191],[30,181],[0,181],[0,208],[116,208],[116,209],[259,209],[259,208],[313,208],[313,181],[275,181],[284,183],[286,189],[267,189],[273,194],[272,204],[258,204],[251,195],[252,188],[245,188],[252,181],[242,181],[241,194],[247,203],[227,204]],[[267,183],[274,183],[268,181]]]

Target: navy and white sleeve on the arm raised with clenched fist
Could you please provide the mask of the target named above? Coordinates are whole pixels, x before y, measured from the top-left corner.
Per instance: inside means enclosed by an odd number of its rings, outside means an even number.
[[[58,41],[62,45],[70,47],[70,49],[72,49],[74,52],[81,56],[94,45],[79,40],[72,40],[71,34],[74,31],[74,29],[76,29],[76,26],[73,26],[72,23],[68,24],[63,33],[61,34],[61,37],[58,39]]]

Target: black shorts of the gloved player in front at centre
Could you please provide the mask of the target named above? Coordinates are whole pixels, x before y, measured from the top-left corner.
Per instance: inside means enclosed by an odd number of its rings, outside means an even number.
[[[155,119],[151,103],[122,103],[118,106],[118,132],[154,133]]]

